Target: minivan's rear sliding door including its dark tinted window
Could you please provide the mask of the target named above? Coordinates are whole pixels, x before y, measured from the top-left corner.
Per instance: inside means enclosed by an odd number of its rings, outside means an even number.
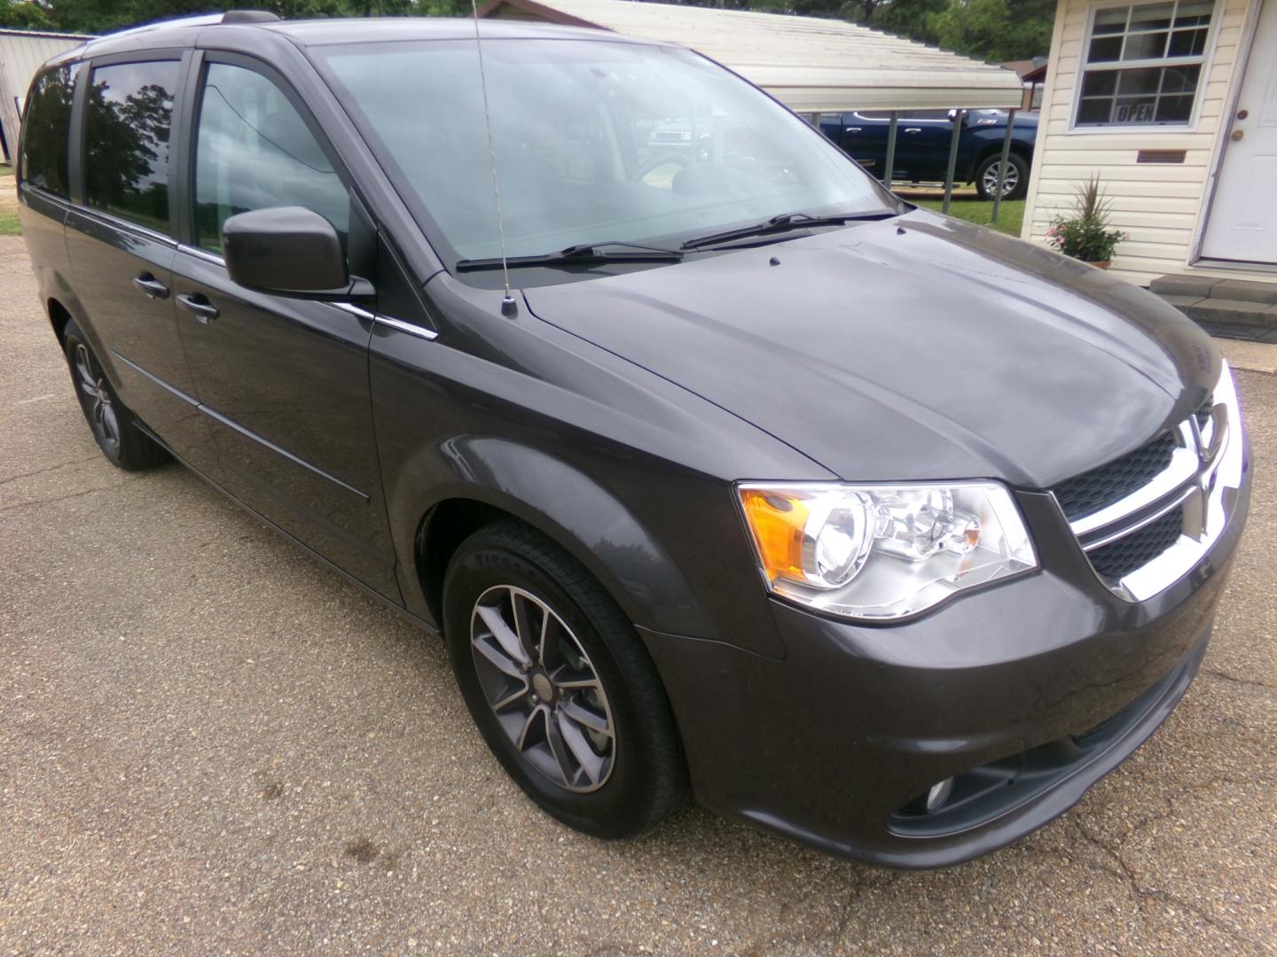
[[[209,434],[172,300],[169,143],[184,56],[147,51],[80,70],[65,232],[84,332],[120,399],[204,471]]]

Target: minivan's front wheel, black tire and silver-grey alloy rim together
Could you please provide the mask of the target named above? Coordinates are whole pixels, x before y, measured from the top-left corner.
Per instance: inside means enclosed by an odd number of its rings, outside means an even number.
[[[656,670],[571,555],[517,522],[480,528],[448,565],[443,620],[470,715],[541,809],[627,837],[674,808],[683,760]]]

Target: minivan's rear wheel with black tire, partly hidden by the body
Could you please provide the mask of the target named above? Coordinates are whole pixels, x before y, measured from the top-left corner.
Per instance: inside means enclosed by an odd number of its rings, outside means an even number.
[[[115,394],[97,353],[74,319],[66,320],[63,347],[84,421],[107,462],[126,472],[166,462],[169,453],[137,427],[138,417]]]

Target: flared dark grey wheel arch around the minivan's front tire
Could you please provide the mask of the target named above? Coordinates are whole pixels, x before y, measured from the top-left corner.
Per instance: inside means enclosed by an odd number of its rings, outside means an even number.
[[[567,462],[510,439],[461,435],[420,449],[387,489],[400,586],[409,610],[433,619],[416,563],[416,530],[442,501],[499,508],[567,549],[635,624],[707,634],[710,623],[673,559],[607,489]],[[660,624],[656,624],[660,623]]]

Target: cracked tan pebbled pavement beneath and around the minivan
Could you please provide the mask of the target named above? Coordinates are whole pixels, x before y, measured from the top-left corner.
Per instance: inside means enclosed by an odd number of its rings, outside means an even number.
[[[1181,706],[1042,831],[891,873],[541,815],[437,641],[101,458],[20,239],[0,302],[0,953],[1277,953],[1277,346],[1237,352],[1258,481]]]

